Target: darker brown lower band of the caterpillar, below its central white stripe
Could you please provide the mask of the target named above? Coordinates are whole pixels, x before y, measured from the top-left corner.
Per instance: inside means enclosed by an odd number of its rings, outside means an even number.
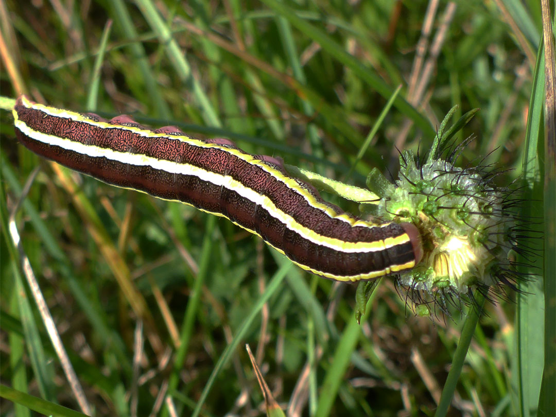
[[[385,269],[386,266],[411,261],[411,244],[398,245],[387,251],[346,253],[316,245],[284,224],[261,206],[240,196],[234,190],[216,186],[198,177],[172,174],[150,166],[135,166],[90,157],[64,148],[46,145],[23,135],[16,128],[18,139],[31,151],[61,163],[73,170],[92,175],[111,185],[135,188],[167,200],[180,200],[214,213],[220,213],[237,224],[255,230],[266,242],[282,249],[287,257],[317,271],[334,275],[358,275]],[[397,224],[373,229],[377,239],[403,233]],[[401,230],[401,231],[400,231]],[[383,232],[380,234],[378,232]]]

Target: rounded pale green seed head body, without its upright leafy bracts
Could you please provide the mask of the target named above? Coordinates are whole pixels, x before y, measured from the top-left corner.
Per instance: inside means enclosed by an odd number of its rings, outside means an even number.
[[[400,275],[401,284],[433,294],[497,284],[499,269],[510,267],[513,221],[505,213],[507,193],[482,172],[448,161],[419,166],[409,151],[400,160],[399,180],[386,190],[378,215],[413,222],[424,249],[419,265]]]

